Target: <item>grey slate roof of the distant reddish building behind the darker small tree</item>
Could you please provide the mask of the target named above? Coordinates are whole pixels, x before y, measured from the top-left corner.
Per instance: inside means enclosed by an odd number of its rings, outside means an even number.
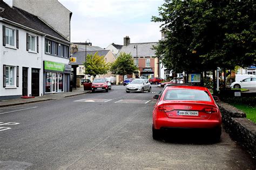
[[[127,46],[123,46],[117,56],[120,54],[120,52],[125,53],[131,53],[133,57],[136,57],[136,48],[134,46],[137,45],[138,47],[138,56],[156,56],[155,50],[151,49],[154,46],[157,45],[158,42],[143,42],[143,43],[131,43]]]

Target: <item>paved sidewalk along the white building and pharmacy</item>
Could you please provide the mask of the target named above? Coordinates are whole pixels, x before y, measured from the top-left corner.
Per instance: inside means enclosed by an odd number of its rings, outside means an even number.
[[[77,96],[77,95],[82,95],[82,94],[86,94],[86,93],[90,93],[90,91],[84,91],[83,88],[77,88],[76,90],[73,89],[72,92],[57,93],[57,94],[45,95],[45,96],[40,96],[40,97],[35,97],[35,98],[17,98],[14,100],[5,100],[5,101],[0,101],[0,108],[10,107],[13,105],[21,105],[21,104],[44,102],[44,101],[50,101],[50,100],[58,100],[60,98]]]

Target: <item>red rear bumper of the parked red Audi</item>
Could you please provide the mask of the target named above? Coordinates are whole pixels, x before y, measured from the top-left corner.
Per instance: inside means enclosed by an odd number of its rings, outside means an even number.
[[[154,122],[155,129],[165,128],[195,128],[195,129],[212,129],[221,126],[219,120],[209,119],[172,119],[158,118]]]

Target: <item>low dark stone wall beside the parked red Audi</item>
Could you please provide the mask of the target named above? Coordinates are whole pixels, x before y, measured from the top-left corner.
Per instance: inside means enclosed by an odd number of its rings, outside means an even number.
[[[256,124],[248,120],[244,112],[232,105],[223,102],[217,104],[226,132],[256,159]]]

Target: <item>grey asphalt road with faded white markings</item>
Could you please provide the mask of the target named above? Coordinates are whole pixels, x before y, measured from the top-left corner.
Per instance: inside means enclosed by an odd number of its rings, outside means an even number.
[[[123,86],[62,100],[0,108],[0,169],[255,169],[223,131],[152,139],[152,93]]]

